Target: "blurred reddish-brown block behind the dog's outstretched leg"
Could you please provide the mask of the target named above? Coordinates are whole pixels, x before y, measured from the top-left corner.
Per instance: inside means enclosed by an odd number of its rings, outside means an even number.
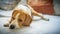
[[[43,14],[54,14],[53,0],[31,0],[29,5],[39,13]]]

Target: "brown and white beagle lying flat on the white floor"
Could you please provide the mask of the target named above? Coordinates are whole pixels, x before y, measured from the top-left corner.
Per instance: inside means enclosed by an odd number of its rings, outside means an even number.
[[[27,7],[28,6],[28,7]],[[33,21],[33,16],[41,17],[43,20],[49,20],[44,18],[43,15],[33,10],[29,5],[18,5],[12,13],[11,20],[8,24],[4,24],[5,27],[10,29],[21,28],[23,26],[30,26]]]

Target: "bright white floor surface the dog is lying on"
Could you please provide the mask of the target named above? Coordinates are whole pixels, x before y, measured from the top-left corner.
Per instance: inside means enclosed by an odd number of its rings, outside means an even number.
[[[50,21],[38,20],[38,17],[34,17],[30,27],[14,30],[3,27],[3,24],[9,21],[9,17],[0,17],[0,34],[60,34],[60,16],[44,16]]]

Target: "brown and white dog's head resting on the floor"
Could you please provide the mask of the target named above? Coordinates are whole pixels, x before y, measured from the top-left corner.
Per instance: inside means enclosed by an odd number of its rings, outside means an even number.
[[[14,10],[9,23],[9,28],[15,29],[22,26],[29,26],[31,22],[31,16],[25,13],[24,10]]]

